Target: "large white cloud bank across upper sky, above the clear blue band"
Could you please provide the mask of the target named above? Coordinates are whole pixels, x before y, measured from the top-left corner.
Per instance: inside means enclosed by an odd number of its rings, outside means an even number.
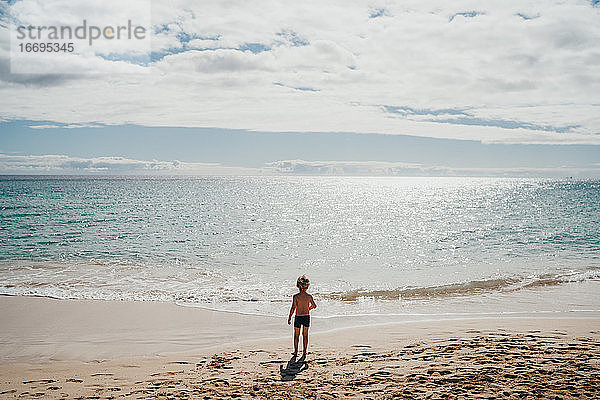
[[[599,22],[582,0],[155,2],[173,54],[149,74],[0,71],[0,117],[600,144]]]

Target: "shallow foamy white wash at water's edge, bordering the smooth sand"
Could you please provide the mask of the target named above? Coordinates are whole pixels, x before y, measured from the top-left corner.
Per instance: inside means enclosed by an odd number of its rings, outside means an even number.
[[[590,269],[591,268],[591,269]],[[597,267],[590,267],[587,272],[593,274],[585,276],[583,280],[565,281],[560,284],[547,283],[534,286],[524,286],[518,289],[501,290],[491,288],[488,291],[475,291],[470,294],[444,294],[437,293],[432,297],[381,299],[378,292],[375,297],[350,297],[333,299],[330,295],[315,293],[315,299],[321,305],[315,319],[320,319],[330,328],[339,325],[351,326],[345,320],[359,321],[360,324],[379,324],[389,320],[405,321],[407,319],[448,319],[483,316],[504,315],[543,315],[543,314],[568,314],[568,313],[600,313],[600,280]],[[586,272],[586,274],[587,274]],[[584,274],[585,275],[585,274]],[[570,274],[564,274],[570,276]],[[538,277],[539,278],[539,277]],[[42,280],[44,281],[44,280]],[[44,281],[45,282],[45,281]],[[44,284],[46,285],[46,283]],[[43,285],[43,286],[44,286]],[[18,286],[18,284],[17,284]],[[52,286],[52,284],[50,284]],[[105,301],[116,303],[161,303],[175,304],[183,308],[203,309],[212,312],[225,312],[243,316],[261,318],[286,318],[289,304],[285,298],[277,300],[261,299],[257,301],[215,301],[201,302],[177,300],[162,296],[119,296],[115,288],[111,296],[96,296],[94,292],[62,293],[53,295],[48,290],[21,291],[12,284],[6,284],[6,289],[0,296],[9,297],[38,297],[59,301]],[[435,288],[445,286],[435,286]],[[423,288],[422,288],[423,289]],[[425,288],[427,289],[427,288]],[[430,290],[431,288],[427,289]],[[386,292],[387,293],[387,292]],[[147,294],[147,293],[146,293]],[[290,291],[289,299],[293,292]],[[440,296],[440,294],[443,294]],[[217,296],[218,298],[218,296]],[[324,315],[321,315],[321,314]]]

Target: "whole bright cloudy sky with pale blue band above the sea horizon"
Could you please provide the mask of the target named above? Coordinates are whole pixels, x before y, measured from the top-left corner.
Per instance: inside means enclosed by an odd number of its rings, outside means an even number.
[[[120,3],[0,2],[0,173],[600,177],[597,1]],[[100,16],[151,42],[15,72]]]

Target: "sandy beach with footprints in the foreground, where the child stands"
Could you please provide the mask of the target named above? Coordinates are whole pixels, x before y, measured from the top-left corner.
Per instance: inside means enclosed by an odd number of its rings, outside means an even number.
[[[419,321],[315,333],[277,318],[0,297],[2,398],[598,398],[600,318]],[[218,346],[206,341],[218,337]]]

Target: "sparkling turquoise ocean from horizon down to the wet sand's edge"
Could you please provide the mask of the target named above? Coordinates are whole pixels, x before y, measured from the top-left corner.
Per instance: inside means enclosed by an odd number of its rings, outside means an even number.
[[[600,309],[600,181],[0,177],[0,294],[320,318]]]

